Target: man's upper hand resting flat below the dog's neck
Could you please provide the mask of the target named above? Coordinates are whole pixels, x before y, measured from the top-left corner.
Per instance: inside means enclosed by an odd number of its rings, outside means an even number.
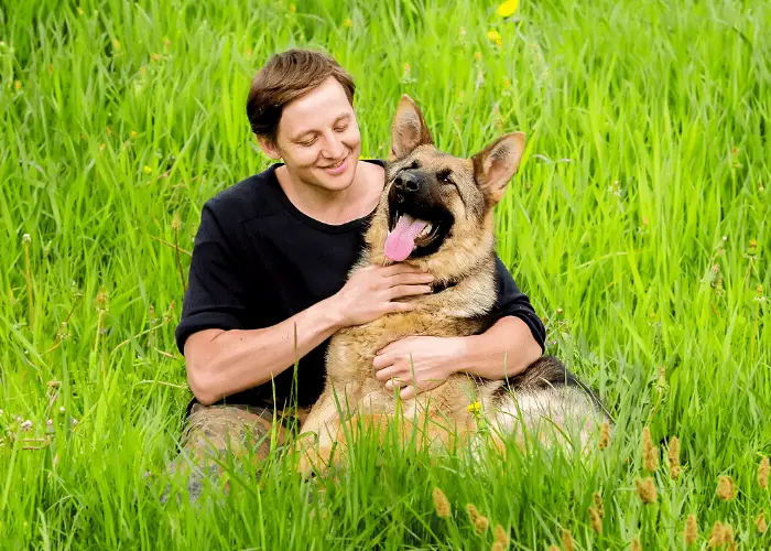
[[[415,307],[398,299],[427,294],[433,276],[409,264],[367,266],[356,270],[332,299],[339,312],[340,326],[361,325],[384,314]]]

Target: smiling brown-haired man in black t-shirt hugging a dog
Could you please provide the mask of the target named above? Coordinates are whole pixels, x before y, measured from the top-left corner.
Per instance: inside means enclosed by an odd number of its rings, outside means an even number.
[[[381,161],[359,160],[354,91],[332,57],[303,50],[273,56],[252,82],[251,129],[282,162],[219,193],[202,213],[176,328],[195,395],[184,445],[198,456],[260,439],[264,456],[263,436],[275,429],[283,442],[321,395],[337,329],[408,310],[399,299],[432,292],[430,274],[399,263],[347,278],[384,184]],[[394,342],[374,358],[376,377],[409,399],[452,372],[502,379],[537,359],[543,324],[500,260],[498,279],[500,318],[486,333]]]

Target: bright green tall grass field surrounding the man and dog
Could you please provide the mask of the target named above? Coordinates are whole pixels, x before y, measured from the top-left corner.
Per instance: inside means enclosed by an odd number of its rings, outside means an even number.
[[[0,2],[0,548],[490,549],[500,525],[510,549],[685,549],[689,515],[693,549],[718,521],[726,549],[770,548],[771,4],[249,3]],[[268,165],[245,98],[292,45],[356,78],[365,156],[401,93],[457,154],[528,134],[499,253],[613,413],[607,449],[482,468],[362,444],[323,497],[276,456],[161,504],[185,251],[204,202]]]

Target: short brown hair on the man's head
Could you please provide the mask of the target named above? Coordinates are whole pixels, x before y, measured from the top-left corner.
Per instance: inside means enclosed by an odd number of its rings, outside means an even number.
[[[354,105],[354,79],[334,57],[312,50],[287,50],[273,55],[257,73],[247,99],[252,132],[275,143],[284,106],[334,77]]]

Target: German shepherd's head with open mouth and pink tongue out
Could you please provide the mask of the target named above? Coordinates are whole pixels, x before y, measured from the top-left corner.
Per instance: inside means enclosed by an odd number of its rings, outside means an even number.
[[[492,210],[519,168],[524,134],[508,133],[470,159],[438,151],[415,102],[393,120],[386,186],[367,234],[370,261],[409,262],[452,282],[495,250]]]

